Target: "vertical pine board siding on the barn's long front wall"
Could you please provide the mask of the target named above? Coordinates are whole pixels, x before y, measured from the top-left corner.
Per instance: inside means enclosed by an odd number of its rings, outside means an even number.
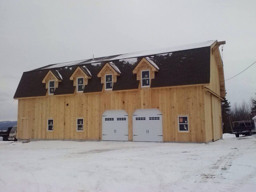
[[[156,108],[163,115],[163,140],[206,142],[202,121],[203,86],[142,89],[19,99],[18,138],[101,140],[105,110],[125,110],[129,115],[132,140],[132,114],[136,109]],[[68,104],[68,105],[67,105]],[[178,115],[189,116],[189,133],[178,132]],[[84,118],[84,131],[76,131],[76,120]],[[54,119],[54,131],[47,131],[47,119]]]

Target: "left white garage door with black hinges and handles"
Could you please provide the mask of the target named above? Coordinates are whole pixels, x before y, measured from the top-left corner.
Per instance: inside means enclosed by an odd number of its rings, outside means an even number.
[[[102,141],[128,141],[128,114],[125,110],[102,114]]]

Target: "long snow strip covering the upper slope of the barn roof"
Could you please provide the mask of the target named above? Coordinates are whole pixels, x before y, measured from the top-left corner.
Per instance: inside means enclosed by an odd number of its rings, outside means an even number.
[[[95,59],[85,59],[85,60],[79,60],[79,61],[57,63],[57,64],[47,65],[45,67],[38,68],[38,70],[39,69],[40,70],[52,69],[52,68],[57,68],[57,67],[66,67],[66,66],[73,66],[73,65],[81,65],[81,64],[90,64],[90,63],[91,64],[95,63],[95,65],[98,65],[98,64],[100,64],[100,62],[112,61],[112,60],[124,60],[124,59],[125,60],[126,59],[134,59],[135,60],[135,59],[137,59],[137,57],[148,56],[148,55],[157,55],[157,54],[168,55],[168,53],[171,53],[174,51],[182,51],[182,50],[196,49],[196,48],[201,48],[201,47],[209,47],[215,41],[216,40],[211,40],[211,41],[204,41],[204,42],[188,44],[188,45],[179,45],[179,46],[175,46],[175,47],[162,48],[162,49],[156,49],[156,50],[147,50],[147,51],[133,52],[133,53],[128,53],[128,54],[100,57],[100,58],[95,58]],[[37,70],[37,69],[35,69],[35,70]]]

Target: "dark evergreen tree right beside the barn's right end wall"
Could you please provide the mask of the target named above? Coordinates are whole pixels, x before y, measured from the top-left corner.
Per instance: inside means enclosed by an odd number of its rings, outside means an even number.
[[[228,102],[228,100],[225,97],[223,99],[224,99],[224,101],[221,101],[223,133],[232,133],[232,129],[231,129],[230,124],[229,124],[230,102]]]

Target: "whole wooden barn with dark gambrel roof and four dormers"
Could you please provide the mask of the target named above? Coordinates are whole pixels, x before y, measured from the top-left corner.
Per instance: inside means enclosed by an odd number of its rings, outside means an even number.
[[[222,138],[218,47],[206,41],[24,72],[20,140],[210,142]]]

